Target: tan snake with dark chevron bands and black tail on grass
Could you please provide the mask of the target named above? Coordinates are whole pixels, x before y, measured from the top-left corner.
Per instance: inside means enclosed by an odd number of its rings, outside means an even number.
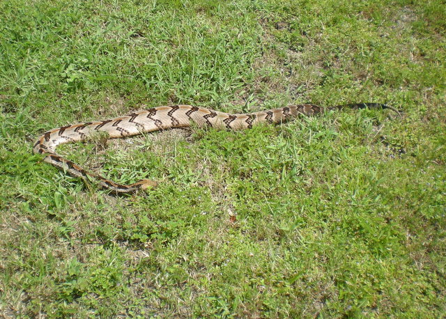
[[[44,156],[44,162],[62,169],[70,176],[88,180],[97,180],[101,187],[116,194],[136,192],[138,189],[156,187],[154,180],[139,180],[130,185],[118,184],[103,176],[91,173],[74,162],[56,153],[56,147],[64,143],[86,141],[94,134],[103,132],[107,139],[131,137],[145,132],[167,130],[174,127],[190,127],[192,123],[199,127],[213,127],[217,130],[245,130],[254,125],[285,123],[298,116],[315,116],[327,111],[351,109],[390,109],[399,114],[399,110],[380,103],[344,104],[335,107],[320,107],[315,104],[298,104],[249,114],[230,114],[206,107],[192,105],[170,105],[134,111],[125,116],[109,120],[78,123],[49,130],[38,137],[33,152]]]

